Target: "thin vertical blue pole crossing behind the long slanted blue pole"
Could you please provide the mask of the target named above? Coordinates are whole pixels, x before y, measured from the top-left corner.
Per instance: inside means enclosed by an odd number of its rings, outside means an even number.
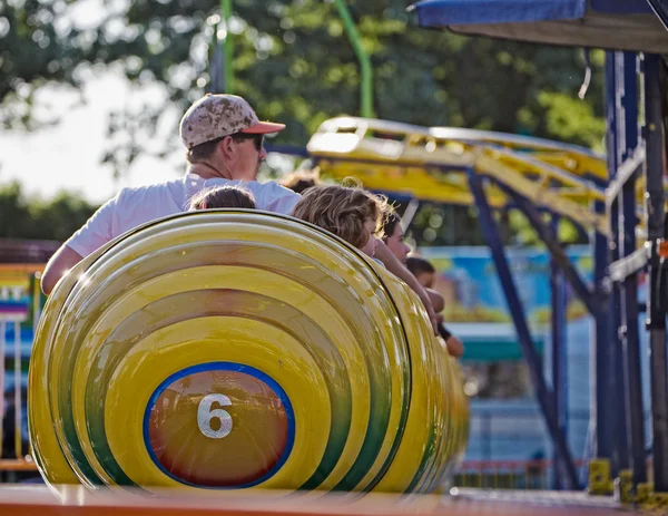
[[[552,233],[559,234],[559,216],[552,216]],[[558,236],[557,236],[558,238]],[[552,390],[559,430],[568,436],[568,363],[566,349],[566,282],[563,273],[554,257],[550,259],[550,290],[552,298]],[[557,457],[553,466],[553,488],[563,488]]]

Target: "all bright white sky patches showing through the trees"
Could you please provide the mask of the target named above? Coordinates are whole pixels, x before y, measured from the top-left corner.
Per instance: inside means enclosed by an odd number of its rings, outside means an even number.
[[[85,30],[97,25],[110,12],[125,12],[129,0],[79,0],[69,6],[63,25]],[[122,27],[116,27],[122,30]],[[111,30],[111,29],[110,29]],[[236,32],[243,30],[239,26]],[[203,50],[206,55],[206,48]],[[166,159],[138,157],[120,178],[114,178],[112,167],[102,165],[101,158],[109,142],[108,118],[111,111],[122,108],[166,104],[167,94],[158,85],[131,87],[119,69],[84,71],[85,86],[79,91],[67,86],[46,86],[36,94],[37,118],[57,118],[55,127],[42,127],[32,133],[9,130],[0,133],[0,187],[12,181],[22,185],[23,192],[49,198],[60,191],[82,195],[101,204],[126,186],[140,186],[176,178],[185,173],[184,148],[178,148]],[[161,119],[155,140],[140,142],[147,148],[161,147],[177,127],[181,113],[167,111]],[[291,169],[292,159],[269,155],[274,167]]]

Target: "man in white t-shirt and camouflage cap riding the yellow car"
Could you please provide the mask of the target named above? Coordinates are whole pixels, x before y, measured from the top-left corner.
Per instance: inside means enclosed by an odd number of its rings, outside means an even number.
[[[264,135],[284,128],[284,124],[259,121],[242,97],[207,95],[197,100],[179,127],[187,148],[186,175],[124,188],[105,203],[49,260],[41,280],[42,291],[50,293],[67,271],[126,231],[186,211],[189,199],[204,188],[242,183],[255,197],[258,210],[289,214],[299,196],[276,183],[256,181],[267,155]]]

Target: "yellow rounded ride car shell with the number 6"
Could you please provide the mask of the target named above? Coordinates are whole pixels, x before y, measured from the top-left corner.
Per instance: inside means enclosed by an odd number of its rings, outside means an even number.
[[[30,366],[52,485],[425,493],[468,420],[405,284],[257,211],[176,215],[86,257],[51,293]]]

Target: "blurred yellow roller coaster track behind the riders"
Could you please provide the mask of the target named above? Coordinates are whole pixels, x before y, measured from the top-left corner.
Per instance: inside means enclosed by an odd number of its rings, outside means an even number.
[[[338,117],[324,121],[307,148],[321,168],[336,178],[355,176],[370,189],[438,203],[473,205],[466,178],[466,172],[473,171],[492,179],[485,193],[497,208],[512,206],[502,191],[505,187],[584,228],[609,233],[607,214],[593,208],[596,202],[606,202],[606,157],[576,145]],[[638,210],[642,188],[640,178]]]

